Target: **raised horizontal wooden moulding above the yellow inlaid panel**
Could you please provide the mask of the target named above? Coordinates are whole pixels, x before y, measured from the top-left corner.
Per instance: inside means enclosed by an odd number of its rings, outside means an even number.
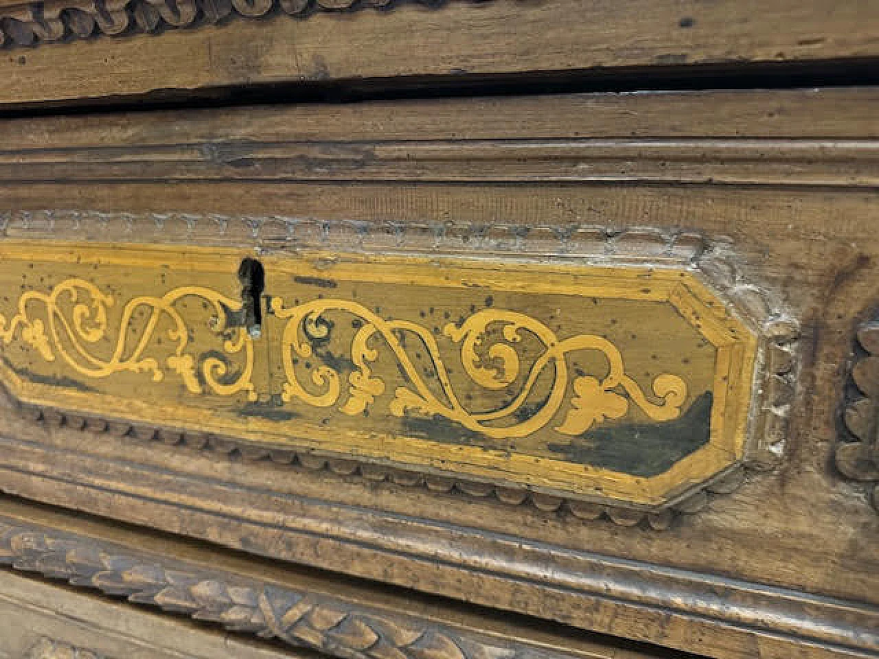
[[[426,110],[425,110],[426,112]],[[283,116],[279,112],[279,116]],[[162,118],[156,119],[163,120]],[[169,119],[186,125],[187,119]],[[291,120],[300,122],[298,118]],[[195,121],[193,124],[197,123]],[[106,121],[112,134],[120,123]],[[239,126],[240,128],[240,126]],[[235,128],[232,128],[234,130]],[[271,128],[270,128],[271,130]],[[869,188],[875,139],[504,137],[259,141],[198,139],[0,148],[0,181],[157,179],[368,183],[641,183]],[[330,146],[331,145],[331,146]],[[124,153],[120,154],[120,151]]]

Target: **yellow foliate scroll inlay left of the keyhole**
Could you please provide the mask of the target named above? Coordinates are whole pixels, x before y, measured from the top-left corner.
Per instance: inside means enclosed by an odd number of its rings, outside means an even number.
[[[212,308],[214,331],[226,335],[223,349],[228,355],[242,356],[243,366],[233,380],[224,380],[229,373],[229,364],[217,357],[205,358],[196,372],[195,358],[191,351],[187,351],[192,329],[178,309],[178,302],[187,298],[202,301]],[[226,326],[229,312],[240,309],[241,301],[208,288],[185,286],[161,297],[136,296],[130,299],[112,327],[108,310],[116,303],[113,295],[102,292],[84,279],[67,279],[54,286],[50,293],[26,291],[18,298],[18,314],[11,319],[0,314],[0,340],[8,345],[20,337],[47,362],[60,359],[87,379],[132,372],[148,373],[153,382],[161,382],[167,369],[177,373],[193,394],[202,394],[206,389],[217,395],[244,391],[251,400],[256,399],[251,382],[251,337],[243,327]],[[135,315],[146,320],[135,323]],[[167,322],[162,323],[163,320]],[[162,362],[152,354],[156,351],[156,339],[161,340],[157,336],[160,324],[163,324],[163,336],[173,346]],[[94,346],[108,341],[112,349],[104,355],[98,354]]]

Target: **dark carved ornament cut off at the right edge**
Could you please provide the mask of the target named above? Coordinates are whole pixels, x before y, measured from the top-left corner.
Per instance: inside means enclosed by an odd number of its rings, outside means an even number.
[[[846,377],[836,466],[847,479],[867,485],[870,501],[879,511],[879,319],[858,327]]]

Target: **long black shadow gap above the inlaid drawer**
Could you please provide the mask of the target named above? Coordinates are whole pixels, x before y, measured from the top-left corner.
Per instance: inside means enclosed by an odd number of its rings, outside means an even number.
[[[239,105],[358,103],[634,91],[784,90],[871,84],[879,84],[879,57],[533,71],[497,75],[455,74],[252,83],[200,90],[157,90],[128,97],[9,104],[0,108],[0,119],[105,112],[196,110]]]

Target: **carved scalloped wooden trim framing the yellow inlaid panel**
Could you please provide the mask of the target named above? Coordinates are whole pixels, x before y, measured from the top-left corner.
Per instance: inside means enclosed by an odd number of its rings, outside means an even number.
[[[193,214],[105,214],[96,211],[47,210],[40,213],[11,213],[3,219],[0,229],[13,226],[17,235],[34,233],[47,222],[51,229],[68,225],[65,233],[73,231],[86,234],[92,222],[101,227],[100,232],[131,232],[136,227],[154,225],[164,232],[176,234],[192,231],[196,223],[214,224],[220,233],[229,230],[229,223],[250,228],[253,239],[260,240],[261,246],[256,254],[282,248],[315,247],[325,249],[332,245],[357,245],[357,250],[375,249],[369,245],[374,239],[381,244],[382,253],[425,253],[442,254],[451,252],[453,244],[464,243],[468,255],[498,255],[514,252],[518,259],[528,254],[543,254],[546,244],[536,241],[531,235],[523,236],[512,232],[504,235],[503,228],[496,228],[489,243],[478,243],[475,228],[454,227],[448,234],[446,230],[432,235],[418,229],[388,226],[368,227],[348,222],[316,222],[309,219],[285,217],[222,217],[204,218]],[[112,226],[115,226],[115,229]],[[176,225],[176,226],[171,226]],[[282,228],[283,239],[278,243],[262,241],[262,232],[267,226]],[[551,229],[550,229],[551,230]],[[539,232],[539,228],[536,232]],[[529,232],[529,234],[532,232]],[[387,237],[391,237],[389,244]],[[49,420],[54,424],[64,424],[70,428],[90,433],[112,432],[120,437],[151,440],[160,438],[169,445],[186,445],[201,451],[243,454],[250,460],[272,460],[275,463],[302,467],[318,472],[328,470],[341,476],[359,476],[367,481],[391,480],[404,486],[426,488],[439,493],[454,493],[464,496],[491,496],[499,502],[511,505],[530,503],[540,511],[555,512],[560,509],[576,518],[607,518],[619,525],[637,525],[641,522],[653,529],[664,530],[673,523],[675,515],[693,513],[708,503],[709,495],[725,494],[733,491],[744,480],[744,469],[749,464],[766,466],[773,464],[783,453],[786,417],[793,399],[796,373],[796,340],[799,336],[798,324],[790,315],[781,310],[773,298],[758,286],[741,281],[732,261],[729,248],[722,244],[710,243],[696,234],[677,234],[657,231],[650,228],[630,230],[609,230],[599,227],[575,229],[570,235],[563,259],[574,259],[591,264],[662,264],[675,265],[697,272],[702,279],[723,295],[759,337],[757,368],[754,372],[754,393],[748,420],[749,439],[745,448],[745,460],[723,470],[716,476],[690,487],[675,496],[669,503],[656,506],[626,504],[607,499],[573,498],[560,495],[554,490],[539,486],[522,487],[514,483],[491,482],[474,479],[454,472],[417,468],[394,468],[381,463],[353,458],[348,454],[328,453],[326,451],[301,451],[284,446],[260,446],[237,439],[233,436],[186,432],[182,428],[166,426],[143,426],[126,423],[125,420],[84,417],[65,409],[47,406],[33,406],[15,402],[25,418],[40,422]],[[14,397],[13,397],[13,400]]]

